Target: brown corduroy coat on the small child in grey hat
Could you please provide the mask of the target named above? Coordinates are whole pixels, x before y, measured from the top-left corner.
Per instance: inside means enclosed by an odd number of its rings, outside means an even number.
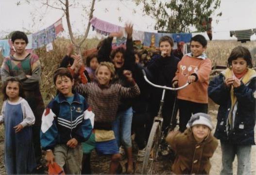
[[[190,129],[168,135],[166,141],[176,153],[172,172],[176,175],[209,174],[210,158],[218,146],[217,139],[210,133],[202,142],[197,143]]]

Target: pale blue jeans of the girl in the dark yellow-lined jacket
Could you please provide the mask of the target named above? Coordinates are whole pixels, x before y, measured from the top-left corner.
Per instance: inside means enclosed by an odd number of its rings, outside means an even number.
[[[251,145],[234,145],[221,141],[222,171],[221,175],[233,175],[233,161],[238,158],[237,175],[251,175]]]

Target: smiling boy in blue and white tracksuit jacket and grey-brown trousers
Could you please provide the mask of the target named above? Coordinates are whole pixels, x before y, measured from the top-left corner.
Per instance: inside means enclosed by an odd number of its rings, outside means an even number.
[[[57,69],[53,80],[59,94],[43,113],[41,146],[48,163],[55,161],[66,174],[81,174],[81,142],[91,135],[94,114],[83,96],[72,93],[74,80],[67,68]]]

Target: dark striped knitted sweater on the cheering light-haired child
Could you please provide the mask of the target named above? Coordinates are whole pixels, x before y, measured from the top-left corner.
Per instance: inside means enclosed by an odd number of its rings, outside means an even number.
[[[94,128],[111,129],[112,121],[115,120],[121,98],[132,98],[140,94],[137,84],[132,87],[122,87],[119,84],[100,87],[98,83],[79,84],[75,91],[88,97],[88,103],[95,114]],[[99,126],[105,123],[106,128]]]

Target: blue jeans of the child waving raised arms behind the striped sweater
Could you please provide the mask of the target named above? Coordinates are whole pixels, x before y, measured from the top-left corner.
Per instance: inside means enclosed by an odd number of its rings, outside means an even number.
[[[113,131],[120,147],[120,142],[125,148],[132,147],[131,128],[133,119],[132,107],[117,113],[116,120],[113,122]]]

